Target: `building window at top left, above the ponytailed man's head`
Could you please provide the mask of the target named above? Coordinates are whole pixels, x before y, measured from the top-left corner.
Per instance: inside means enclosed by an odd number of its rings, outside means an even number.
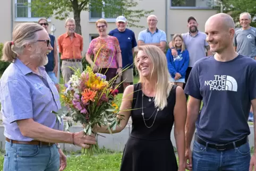
[[[37,21],[41,16],[38,16],[31,10],[31,3],[35,0],[15,0],[15,19],[16,21]],[[28,20],[32,19],[32,20]],[[49,21],[49,20],[48,20]]]

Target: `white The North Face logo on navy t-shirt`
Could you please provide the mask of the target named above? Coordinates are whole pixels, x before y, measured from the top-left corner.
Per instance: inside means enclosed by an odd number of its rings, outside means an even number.
[[[204,81],[204,86],[210,86],[210,90],[237,91],[237,82],[232,76],[214,75],[215,80]]]

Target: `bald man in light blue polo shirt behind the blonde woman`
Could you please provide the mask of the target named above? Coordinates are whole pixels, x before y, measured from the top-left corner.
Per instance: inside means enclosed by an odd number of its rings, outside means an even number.
[[[167,42],[166,33],[157,28],[158,21],[156,15],[149,15],[147,21],[148,29],[139,33],[138,46],[146,44],[156,45],[165,52]]]

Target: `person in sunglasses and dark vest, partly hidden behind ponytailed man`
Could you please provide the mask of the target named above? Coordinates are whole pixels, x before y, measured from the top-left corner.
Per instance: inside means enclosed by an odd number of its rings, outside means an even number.
[[[42,25],[48,32],[48,22],[47,19],[41,18],[38,20],[38,24]],[[58,50],[57,44],[55,41],[55,36],[50,35],[50,45],[53,47],[53,50],[47,55],[48,63],[45,65],[45,71],[49,75],[50,79],[54,82],[57,90],[59,90],[58,80],[57,80],[57,73],[58,73]]]

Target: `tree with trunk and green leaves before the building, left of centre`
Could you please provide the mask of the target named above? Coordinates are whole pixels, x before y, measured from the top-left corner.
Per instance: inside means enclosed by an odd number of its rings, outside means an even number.
[[[142,1],[142,0],[140,0]],[[147,0],[146,0],[147,1]],[[153,10],[134,10],[138,2],[134,0],[33,0],[31,11],[37,16],[55,16],[55,19],[65,20],[71,13],[74,14],[75,32],[81,35],[81,19],[82,11],[104,12],[105,18],[108,16],[124,15],[129,21],[130,27],[140,27],[136,25],[141,18],[153,12]]]

